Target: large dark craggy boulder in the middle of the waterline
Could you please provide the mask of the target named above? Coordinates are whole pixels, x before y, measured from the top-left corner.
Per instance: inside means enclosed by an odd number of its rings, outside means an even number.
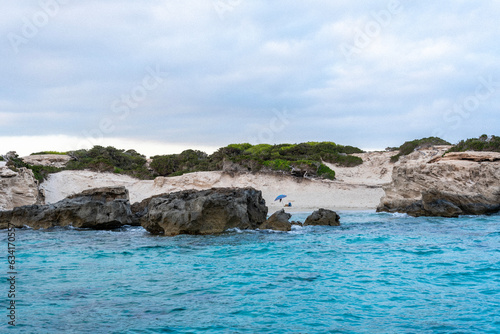
[[[262,193],[253,188],[185,190],[151,199],[140,218],[152,234],[213,234],[256,229],[267,216]]]

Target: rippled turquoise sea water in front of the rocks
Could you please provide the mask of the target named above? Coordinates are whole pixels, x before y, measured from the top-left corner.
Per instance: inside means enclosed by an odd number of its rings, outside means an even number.
[[[215,236],[17,230],[16,326],[4,279],[0,332],[500,333],[499,215],[339,214]]]

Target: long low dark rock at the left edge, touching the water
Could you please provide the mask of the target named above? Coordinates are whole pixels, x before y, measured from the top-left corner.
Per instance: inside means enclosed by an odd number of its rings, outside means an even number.
[[[131,223],[128,190],[97,188],[75,194],[49,205],[28,205],[0,212],[0,228],[8,224],[34,229],[73,226],[114,229]]]

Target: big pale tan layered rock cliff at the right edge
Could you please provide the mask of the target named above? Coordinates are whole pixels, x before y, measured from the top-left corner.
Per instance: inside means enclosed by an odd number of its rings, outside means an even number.
[[[427,163],[402,163],[377,211],[458,217],[500,211],[500,154],[457,152]]]

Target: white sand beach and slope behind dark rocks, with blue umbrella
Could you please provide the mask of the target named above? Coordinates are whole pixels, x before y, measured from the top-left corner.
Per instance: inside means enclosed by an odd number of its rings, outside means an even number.
[[[212,187],[254,187],[262,191],[270,212],[291,202],[287,211],[326,209],[375,209],[384,195],[382,185],[390,182],[392,166],[388,163],[392,152],[359,154],[365,161],[361,166],[346,168],[331,166],[337,180],[312,180],[288,175],[243,174],[231,177],[222,172],[198,172],[178,177],[158,177],[154,181],[140,181],[112,173],[90,171],[63,171],[52,174],[41,184],[46,202],[54,203],[68,195],[90,188],[125,186],[131,203],[150,196],[185,189]],[[280,203],[276,196],[287,197]]]

